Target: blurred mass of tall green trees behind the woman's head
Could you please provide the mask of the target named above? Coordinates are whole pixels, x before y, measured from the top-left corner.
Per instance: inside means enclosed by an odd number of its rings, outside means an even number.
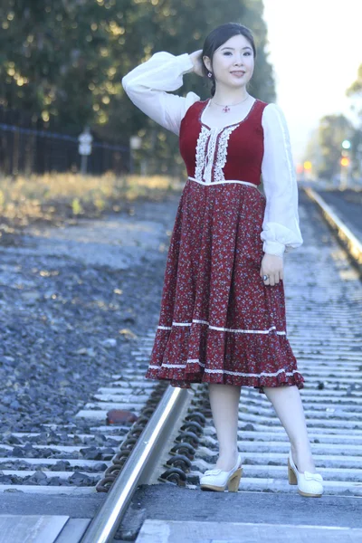
[[[157,51],[193,52],[215,26],[250,27],[258,50],[251,92],[275,99],[265,53],[262,0],[3,0],[0,17],[0,105],[25,110],[48,126],[129,144],[142,137],[149,172],[183,168],[176,136],[133,107],[122,76]],[[203,100],[207,81],[191,74],[179,90]]]

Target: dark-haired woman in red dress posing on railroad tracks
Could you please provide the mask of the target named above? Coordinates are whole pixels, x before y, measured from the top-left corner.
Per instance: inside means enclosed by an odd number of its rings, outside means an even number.
[[[281,109],[247,91],[255,58],[251,31],[223,24],[202,51],[157,52],[122,79],[130,100],[179,136],[187,170],[146,377],[184,388],[208,383],[219,457],[202,489],[238,489],[240,392],[253,386],[271,400],[291,441],[290,483],[320,496],[300,399],[304,378],[286,335],[283,254],[303,243],[298,187]],[[212,82],[211,98],[170,92],[188,72]]]

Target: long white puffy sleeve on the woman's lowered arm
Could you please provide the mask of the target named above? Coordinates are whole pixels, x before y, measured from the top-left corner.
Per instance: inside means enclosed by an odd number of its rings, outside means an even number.
[[[282,256],[303,243],[298,215],[298,186],[291,140],[284,114],[276,104],[262,112],[264,155],[262,183],[266,196],[262,250]]]

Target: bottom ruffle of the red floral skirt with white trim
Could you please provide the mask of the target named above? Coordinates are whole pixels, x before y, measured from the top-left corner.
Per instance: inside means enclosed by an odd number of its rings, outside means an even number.
[[[285,336],[234,334],[193,324],[187,329],[158,329],[153,363],[146,377],[168,379],[171,386],[190,388],[190,383],[223,383],[253,386],[296,385],[304,379]]]

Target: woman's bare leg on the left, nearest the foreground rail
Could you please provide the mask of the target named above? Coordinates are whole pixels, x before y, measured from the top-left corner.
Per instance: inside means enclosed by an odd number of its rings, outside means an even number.
[[[237,460],[237,430],[241,386],[209,383],[209,398],[219,442],[215,468],[228,472]]]

